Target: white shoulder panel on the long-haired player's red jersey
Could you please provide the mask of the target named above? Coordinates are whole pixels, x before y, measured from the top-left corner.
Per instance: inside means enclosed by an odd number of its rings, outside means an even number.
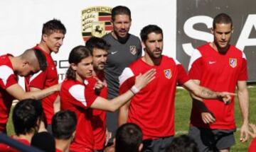
[[[87,107],[87,103],[85,100],[85,86],[76,84],[76,85],[72,86],[68,90],[68,92],[70,93],[70,95],[73,96],[73,98],[80,101],[82,103],[82,105],[85,105],[85,107]]]

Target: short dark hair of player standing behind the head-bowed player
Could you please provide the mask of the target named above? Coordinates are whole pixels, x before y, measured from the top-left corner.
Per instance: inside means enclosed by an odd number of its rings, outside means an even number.
[[[46,23],[43,24],[43,30],[42,30],[42,35],[50,35],[54,32],[60,32],[65,35],[66,29],[63,23],[61,23],[59,20],[53,18],[53,20],[50,20]]]

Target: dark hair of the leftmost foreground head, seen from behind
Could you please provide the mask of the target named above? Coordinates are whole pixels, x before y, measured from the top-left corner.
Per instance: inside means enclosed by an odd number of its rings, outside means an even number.
[[[27,134],[38,129],[38,121],[43,117],[43,108],[39,100],[21,100],[14,107],[12,115],[14,130],[17,135]]]

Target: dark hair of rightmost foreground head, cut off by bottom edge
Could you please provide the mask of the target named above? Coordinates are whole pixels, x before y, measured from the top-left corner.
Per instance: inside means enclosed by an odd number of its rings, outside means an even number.
[[[166,152],[198,152],[196,142],[188,135],[183,134],[175,137],[171,144],[166,148]]]

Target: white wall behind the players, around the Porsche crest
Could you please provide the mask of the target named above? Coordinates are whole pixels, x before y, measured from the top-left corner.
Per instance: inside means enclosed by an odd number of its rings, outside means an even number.
[[[81,11],[91,6],[124,5],[132,11],[130,33],[139,36],[148,24],[164,30],[164,54],[176,57],[176,1],[175,0],[1,0],[0,1],[0,54],[15,56],[33,47],[41,40],[43,23],[57,18],[67,28],[63,46],[53,59],[68,59],[70,50],[84,45],[81,32]],[[65,69],[58,69],[65,74]]]

